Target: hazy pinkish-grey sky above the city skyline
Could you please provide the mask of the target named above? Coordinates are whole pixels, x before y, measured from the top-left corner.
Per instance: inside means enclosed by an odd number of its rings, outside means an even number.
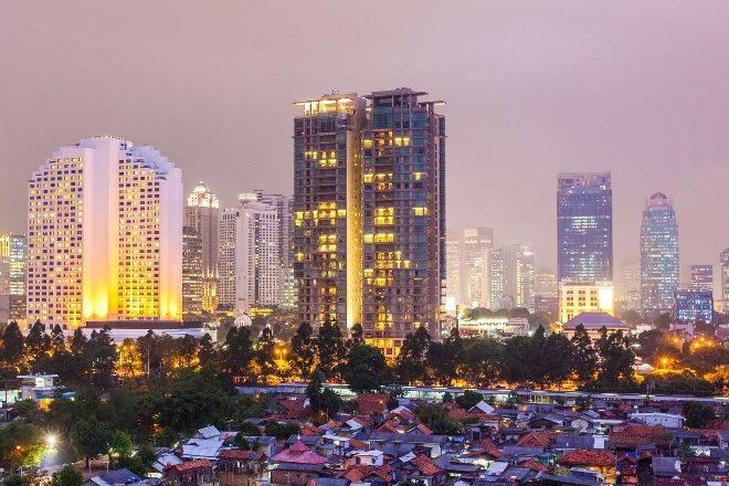
[[[729,246],[727,1],[0,2],[0,231],[64,144],[152,145],[236,192],[293,191],[292,102],[409,86],[445,99],[448,229],[556,263],[556,176],[611,170],[616,270],[645,198],[682,264]]]

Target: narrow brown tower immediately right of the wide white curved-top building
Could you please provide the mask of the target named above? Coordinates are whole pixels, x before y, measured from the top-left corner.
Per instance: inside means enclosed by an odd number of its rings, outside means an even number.
[[[182,228],[182,319],[202,315],[202,239],[194,228]]]

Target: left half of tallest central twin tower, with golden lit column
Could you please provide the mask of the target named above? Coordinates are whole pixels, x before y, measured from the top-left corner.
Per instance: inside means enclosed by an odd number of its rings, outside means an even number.
[[[294,120],[294,275],[299,320],[347,330],[362,323],[364,99],[331,94],[299,102]]]

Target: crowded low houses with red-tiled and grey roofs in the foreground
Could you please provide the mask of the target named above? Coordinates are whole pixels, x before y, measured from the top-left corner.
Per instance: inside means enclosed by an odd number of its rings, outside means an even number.
[[[558,404],[464,410],[436,403],[458,435],[433,433],[401,401],[360,394],[358,411],[314,425],[307,400],[279,397],[284,413],[250,419],[260,436],[214,426],[175,450],[160,450],[154,468],[182,486],[517,486],[603,484],[700,486],[728,484],[729,421],[688,430],[675,403],[595,402],[590,410]],[[722,413],[717,410],[717,413]],[[265,423],[296,423],[287,439],[264,435]],[[249,427],[250,429],[250,427]]]

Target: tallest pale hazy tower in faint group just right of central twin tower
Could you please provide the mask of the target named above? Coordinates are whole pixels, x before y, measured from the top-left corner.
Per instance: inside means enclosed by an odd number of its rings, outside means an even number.
[[[489,228],[472,228],[463,232],[463,272],[461,288],[463,300],[469,307],[488,307],[488,252],[494,247],[494,231]],[[446,277],[447,278],[447,277]]]

